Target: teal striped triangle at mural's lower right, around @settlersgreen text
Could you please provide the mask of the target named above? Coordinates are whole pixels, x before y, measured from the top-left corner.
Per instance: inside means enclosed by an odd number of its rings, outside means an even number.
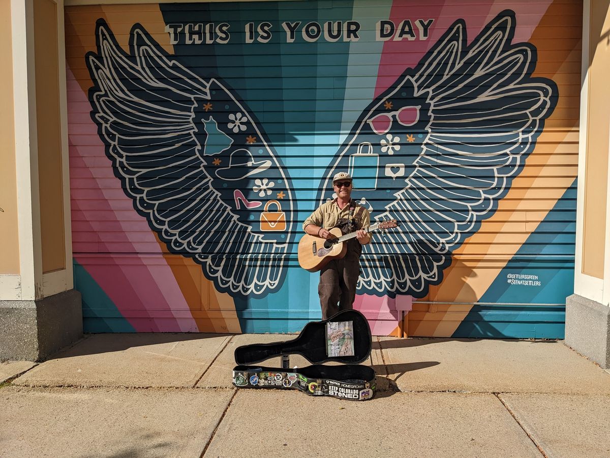
[[[531,233],[480,302],[564,304],[574,289],[576,180]],[[508,274],[537,275],[540,286],[511,285]],[[453,337],[564,338],[565,307],[475,306]]]

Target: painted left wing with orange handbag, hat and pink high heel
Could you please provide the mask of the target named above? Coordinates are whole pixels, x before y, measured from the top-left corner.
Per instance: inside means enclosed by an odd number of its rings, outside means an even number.
[[[129,54],[103,21],[96,41],[86,57],[91,118],[135,210],[220,291],[278,288],[292,189],[254,116],[220,81],[172,60],[139,24]]]

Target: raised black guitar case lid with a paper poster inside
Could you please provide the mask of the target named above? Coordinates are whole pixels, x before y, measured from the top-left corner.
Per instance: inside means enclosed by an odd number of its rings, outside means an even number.
[[[298,354],[310,363],[357,364],[371,354],[371,329],[357,310],[343,310],[323,321],[307,323],[293,340],[250,344],[235,349],[238,365],[253,365],[280,355]]]

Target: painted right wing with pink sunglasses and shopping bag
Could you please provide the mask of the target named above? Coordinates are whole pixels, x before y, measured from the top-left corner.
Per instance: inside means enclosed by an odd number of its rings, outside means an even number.
[[[365,247],[359,291],[425,296],[522,170],[557,89],[531,77],[536,49],[511,45],[514,27],[503,12],[468,46],[456,21],[365,109],[329,165],[321,189],[348,170],[371,220],[402,224]]]

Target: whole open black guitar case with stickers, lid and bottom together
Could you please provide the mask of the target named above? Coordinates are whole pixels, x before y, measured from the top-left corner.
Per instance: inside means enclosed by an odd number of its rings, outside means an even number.
[[[300,390],[310,396],[364,401],[376,390],[375,371],[362,363],[371,354],[371,329],[357,310],[344,310],[305,325],[293,340],[250,344],[235,349],[233,384],[238,388]],[[290,369],[289,357],[302,355],[312,366]],[[282,357],[282,368],[256,366]],[[325,362],[342,365],[323,365]]]

